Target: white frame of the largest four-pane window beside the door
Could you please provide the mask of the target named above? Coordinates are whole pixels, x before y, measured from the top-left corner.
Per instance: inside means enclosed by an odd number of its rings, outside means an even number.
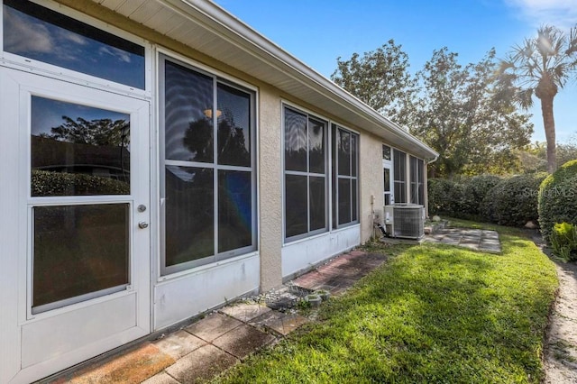
[[[166,137],[165,137],[165,122],[164,122],[164,111],[165,111],[165,63],[170,61],[175,63],[185,69],[189,69],[196,72],[202,76],[212,78],[212,89],[213,89],[213,109],[217,108],[217,93],[218,85],[222,84],[226,87],[232,87],[235,90],[246,93],[250,96],[250,149],[251,149],[251,165],[250,166],[236,166],[236,165],[225,165],[218,163],[217,151],[218,151],[218,115],[214,114],[211,116],[213,120],[213,160],[211,162],[206,161],[183,161],[183,160],[167,160],[166,159]],[[177,53],[169,52],[168,50],[158,50],[157,54],[157,75],[158,75],[158,120],[159,120],[159,184],[160,184],[160,279],[168,279],[170,275],[179,276],[179,272],[186,272],[188,270],[195,269],[200,266],[211,264],[218,261],[225,261],[231,258],[246,255],[253,251],[258,250],[258,89],[252,87],[251,85],[244,83],[242,80],[236,78],[230,78],[223,73],[206,67],[200,63],[193,62]],[[214,253],[212,255],[195,259],[192,261],[185,261],[179,264],[166,265],[166,166],[176,166],[176,167],[188,167],[197,169],[212,169],[213,170],[213,224],[214,224]],[[219,245],[219,211],[218,211],[218,199],[219,199],[219,170],[228,171],[244,171],[251,173],[251,213],[252,213],[252,244],[249,246],[244,246],[241,248],[236,248],[229,251],[218,251]]]

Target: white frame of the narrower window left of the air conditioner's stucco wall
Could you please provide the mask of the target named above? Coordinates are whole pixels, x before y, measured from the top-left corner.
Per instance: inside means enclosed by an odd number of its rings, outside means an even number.
[[[338,153],[338,149],[337,149],[337,132],[338,131],[343,131],[345,133],[349,133],[349,141],[352,144],[353,142],[353,136],[356,137],[356,148],[354,151],[354,156],[356,156],[356,162],[354,165],[356,165],[356,169],[355,169],[355,173],[356,176],[353,176],[353,147],[351,146],[351,155],[349,158],[349,167],[350,167],[350,175],[340,175],[339,174],[339,153]],[[332,134],[332,149],[333,149],[333,157],[332,157],[332,163],[331,166],[333,167],[333,191],[332,191],[332,195],[333,195],[333,229],[341,229],[341,228],[345,228],[351,225],[355,225],[355,224],[359,224],[360,223],[360,203],[359,203],[359,190],[361,188],[360,185],[360,144],[361,144],[361,135],[359,133],[356,133],[348,128],[343,127],[342,125],[339,125],[337,123],[332,123],[331,124],[331,134]],[[350,185],[351,185],[351,190],[349,193],[349,198],[350,198],[350,215],[351,215],[351,221],[346,222],[346,223],[342,223],[339,224],[339,180],[340,179],[348,179],[350,180]],[[353,202],[353,180],[356,182],[356,191],[355,191],[355,201]],[[353,211],[353,207],[354,207],[354,211]],[[356,212],[356,218],[353,219],[353,212]]]

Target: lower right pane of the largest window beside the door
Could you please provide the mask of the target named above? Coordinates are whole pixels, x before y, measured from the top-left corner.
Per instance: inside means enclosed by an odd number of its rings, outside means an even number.
[[[218,251],[252,245],[251,172],[218,171]]]

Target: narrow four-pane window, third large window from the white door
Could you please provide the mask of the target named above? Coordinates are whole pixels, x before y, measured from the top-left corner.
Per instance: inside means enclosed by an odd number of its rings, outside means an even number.
[[[359,135],[333,124],[334,228],[359,222]]]

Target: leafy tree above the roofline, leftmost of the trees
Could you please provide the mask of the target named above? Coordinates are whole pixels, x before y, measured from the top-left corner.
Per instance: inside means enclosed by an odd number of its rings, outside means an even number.
[[[336,59],[331,79],[367,105],[397,123],[404,119],[404,101],[415,93],[416,80],[408,72],[408,55],[392,39],[362,58]]]

